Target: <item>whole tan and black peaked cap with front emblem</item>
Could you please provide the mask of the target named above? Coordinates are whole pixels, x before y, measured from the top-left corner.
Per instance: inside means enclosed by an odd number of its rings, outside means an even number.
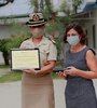
[[[47,19],[43,17],[42,13],[32,13],[29,15],[29,22],[26,23],[27,26],[41,26],[46,24]]]

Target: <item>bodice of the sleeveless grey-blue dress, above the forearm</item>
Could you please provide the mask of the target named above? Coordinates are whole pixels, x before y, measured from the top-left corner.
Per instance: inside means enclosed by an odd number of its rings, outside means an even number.
[[[82,51],[77,52],[77,53],[71,53],[70,50],[67,51],[65,67],[73,66],[81,70],[88,70],[88,67],[86,65],[86,59],[85,59],[87,50],[88,48],[85,48]]]

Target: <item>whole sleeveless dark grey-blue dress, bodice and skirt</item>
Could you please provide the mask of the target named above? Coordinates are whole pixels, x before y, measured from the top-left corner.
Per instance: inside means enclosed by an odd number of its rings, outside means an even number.
[[[86,46],[80,52],[66,52],[65,67],[73,66],[81,70],[89,70],[86,64]],[[87,72],[87,71],[86,71]],[[67,77],[66,108],[97,108],[97,100],[93,81],[82,77]]]

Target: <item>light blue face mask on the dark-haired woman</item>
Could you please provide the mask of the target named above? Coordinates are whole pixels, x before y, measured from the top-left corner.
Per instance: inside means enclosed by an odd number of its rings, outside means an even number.
[[[67,42],[70,45],[77,45],[80,42],[79,36],[67,37]]]

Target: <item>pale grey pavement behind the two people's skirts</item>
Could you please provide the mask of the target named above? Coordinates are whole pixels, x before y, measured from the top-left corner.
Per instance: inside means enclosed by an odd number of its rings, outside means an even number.
[[[54,80],[55,108],[65,108],[65,81]],[[20,82],[0,83],[0,108],[22,108]]]

